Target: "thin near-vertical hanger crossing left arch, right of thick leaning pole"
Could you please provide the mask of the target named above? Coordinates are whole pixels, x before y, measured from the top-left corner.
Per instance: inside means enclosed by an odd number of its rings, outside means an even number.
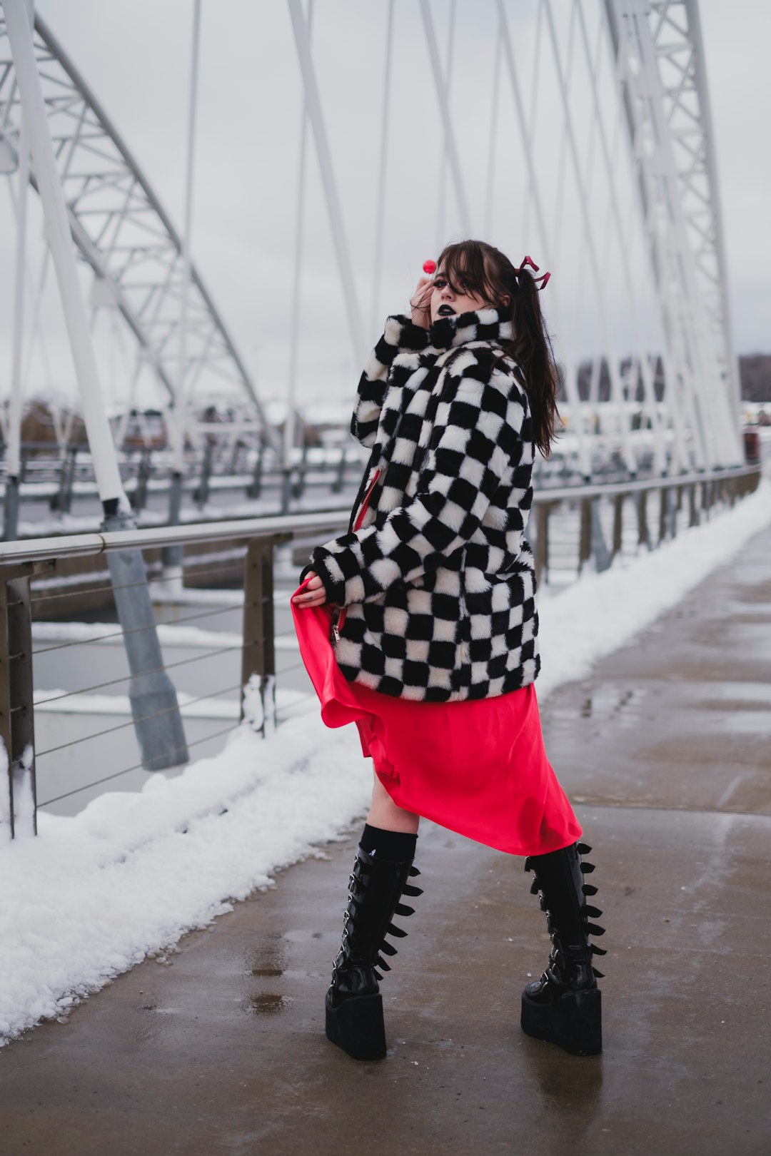
[[[185,225],[181,236],[181,313],[179,319],[179,361],[175,378],[175,398],[169,409],[172,445],[172,479],[169,501],[169,525],[179,525],[181,510],[181,483],[185,469],[185,369],[187,363],[187,324],[190,304],[191,236],[193,230],[193,173],[195,163],[195,119],[198,111],[198,61],[201,43],[201,0],[193,6],[193,47],[190,74],[190,97],[187,113],[187,158],[185,164]],[[181,570],[183,551],[168,548],[163,563]],[[170,576],[171,577],[171,576]],[[179,575],[180,577],[180,575]]]

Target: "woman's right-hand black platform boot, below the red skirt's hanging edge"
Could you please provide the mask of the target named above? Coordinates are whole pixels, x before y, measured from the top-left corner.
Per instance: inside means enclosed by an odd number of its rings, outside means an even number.
[[[592,966],[592,956],[606,955],[590,943],[590,935],[603,935],[605,928],[588,920],[602,914],[586,903],[596,888],[584,882],[594,870],[581,862],[591,851],[573,843],[546,855],[531,855],[525,870],[534,870],[531,891],[541,892],[541,910],[548,916],[551,954],[540,979],[522,992],[522,1030],[535,1039],[558,1044],[573,1055],[595,1055],[602,1051],[602,1003],[596,986],[602,972]]]

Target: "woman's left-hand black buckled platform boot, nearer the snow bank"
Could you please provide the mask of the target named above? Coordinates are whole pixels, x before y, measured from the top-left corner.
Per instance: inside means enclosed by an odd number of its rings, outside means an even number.
[[[394,914],[413,914],[415,909],[399,899],[402,895],[423,894],[418,887],[407,882],[414,875],[420,875],[420,872],[412,861],[388,862],[362,847],[356,851],[349,880],[348,909],[343,916],[342,943],[326,995],[327,1039],[355,1060],[381,1060],[386,1054],[383,996],[378,983],[383,976],[377,969],[390,971],[383,956],[396,954],[386,934],[398,939],[407,935],[391,920]]]

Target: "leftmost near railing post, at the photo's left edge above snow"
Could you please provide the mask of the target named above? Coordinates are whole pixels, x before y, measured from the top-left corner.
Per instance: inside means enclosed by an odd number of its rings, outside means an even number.
[[[37,835],[32,707],[31,563],[0,570],[0,844]]]

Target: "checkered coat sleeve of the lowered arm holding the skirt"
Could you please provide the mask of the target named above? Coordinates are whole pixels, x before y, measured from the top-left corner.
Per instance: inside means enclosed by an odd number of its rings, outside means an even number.
[[[492,358],[466,355],[447,373],[428,452],[412,498],[385,521],[317,547],[311,569],[329,602],[378,598],[395,581],[413,581],[464,546],[522,451],[527,398]]]

